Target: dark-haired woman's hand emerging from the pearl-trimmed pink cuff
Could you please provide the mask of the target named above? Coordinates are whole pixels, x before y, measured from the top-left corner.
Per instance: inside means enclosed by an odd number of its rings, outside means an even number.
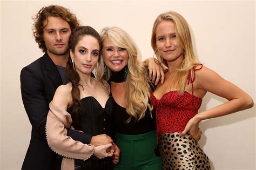
[[[112,143],[106,145],[100,145],[95,147],[94,155],[98,159],[103,159],[105,157],[112,157],[114,150],[111,148]]]

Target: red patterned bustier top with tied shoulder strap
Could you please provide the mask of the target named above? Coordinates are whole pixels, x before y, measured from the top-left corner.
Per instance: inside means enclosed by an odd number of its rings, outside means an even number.
[[[203,65],[199,69],[202,67]],[[178,91],[169,91],[157,99],[151,93],[151,103],[156,108],[157,115],[157,136],[182,132],[187,122],[198,113],[202,99],[193,95],[193,82],[196,78],[195,72],[199,69],[193,68],[193,78],[191,71],[188,73],[187,84],[192,84],[192,94],[184,91],[184,94],[180,95]]]

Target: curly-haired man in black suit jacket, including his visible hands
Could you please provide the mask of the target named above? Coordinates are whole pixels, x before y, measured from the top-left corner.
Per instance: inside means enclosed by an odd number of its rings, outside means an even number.
[[[79,25],[76,16],[62,6],[50,5],[37,13],[33,35],[44,56],[21,71],[22,100],[32,125],[31,140],[22,169],[56,169],[57,154],[48,146],[45,125],[49,103],[59,85],[68,83],[64,76],[69,59],[69,37]],[[112,139],[105,134],[93,136],[75,130],[68,135],[84,144],[105,145]],[[117,164],[119,148],[113,162]]]

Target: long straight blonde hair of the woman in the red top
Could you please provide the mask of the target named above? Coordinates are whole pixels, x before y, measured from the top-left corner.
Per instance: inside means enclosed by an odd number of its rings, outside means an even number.
[[[154,21],[153,28],[152,28],[152,35],[151,35],[151,46],[154,51],[157,49],[156,45],[156,29],[158,24],[161,21],[172,21],[175,25],[176,36],[178,38],[179,45],[184,50],[184,60],[181,63],[180,67],[173,72],[173,83],[171,88],[178,90],[181,94],[185,91],[185,86],[188,76],[188,71],[193,72],[193,67],[199,65],[200,63],[197,62],[196,56],[194,55],[193,44],[190,29],[186,20],[177,12],[169,11],[165,13],[161,13]],[[163,59],[158,52],[156,52],[156,57],[159,61],[163,60],[163,64],[167,66],[167,62]],[[193,73],[191,72],[191,75]],[[192,79],[193,77],[191,77]]]

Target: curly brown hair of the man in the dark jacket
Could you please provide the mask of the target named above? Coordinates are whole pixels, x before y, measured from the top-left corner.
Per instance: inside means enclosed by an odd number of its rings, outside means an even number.
[[[72,32],[75,30],[76,26],[80,25],[75,14],[71,13],[69,9],[58,5],[44,6],[39,10],[35,17],[32,17],[34,20],[33,36],[35,37],[39,48],[42,49],[43,52],[47,51],[43,39],[43,29],[44,21],[48,19],[48,17],[60,17],[64,19],[64,21],[69,23]]]

